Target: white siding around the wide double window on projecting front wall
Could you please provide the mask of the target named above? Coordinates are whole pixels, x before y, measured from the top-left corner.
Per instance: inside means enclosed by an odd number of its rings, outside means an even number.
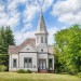
[[[24,57],[32,58],[32,68],[24,68]],[[33,68],[36,66],[36,68]],[[37,67],[37,53],[19,53],[19,69],[28,69],[31,71],[38,71]]]

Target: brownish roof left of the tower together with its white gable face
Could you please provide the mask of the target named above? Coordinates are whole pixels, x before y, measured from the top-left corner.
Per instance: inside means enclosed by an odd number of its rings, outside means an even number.
[[[21,45],[9,45],[9,54],[18,54],[21,51],[27,52],[27,49],[30,49],[29,51],[36,52],[35,38],[28,38]]]

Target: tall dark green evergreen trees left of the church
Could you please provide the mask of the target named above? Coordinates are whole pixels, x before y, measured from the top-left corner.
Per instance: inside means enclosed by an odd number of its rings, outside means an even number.
[[[8,49],[9,45],[14,45],[14,36],[10,28],[8,27],[1,27],[0,28],[0,64],[9,66],[9,55],[8,55]]]

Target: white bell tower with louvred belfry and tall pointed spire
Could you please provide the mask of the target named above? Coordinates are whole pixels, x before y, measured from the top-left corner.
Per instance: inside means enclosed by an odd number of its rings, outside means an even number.
[[[40,18],[36,31],[36,48],[46,48],[48,46],[48,36],[46,26],[43,18],[43,13],[40,13]],[[42,50],[42,49],[41,49]]]

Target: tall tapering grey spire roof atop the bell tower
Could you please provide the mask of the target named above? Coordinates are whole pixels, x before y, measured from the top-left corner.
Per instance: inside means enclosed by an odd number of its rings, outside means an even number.
[[[39,18],[39,23],[38,23],[38,27],[37,27],[37,31],[36,35],[38,33],[44,33],[44,35],[49,35],[48,30],[46,30],[46,26],[44,23],[44,18],[43,18],[43,13],[41,12],[40,14],[40,18]]]

